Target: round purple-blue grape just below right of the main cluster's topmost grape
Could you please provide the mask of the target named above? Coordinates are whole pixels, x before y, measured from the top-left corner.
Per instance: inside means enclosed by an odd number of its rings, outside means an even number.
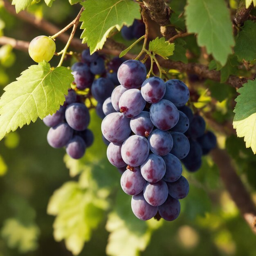
[[[165,94],[164,80],[157,76],[150,77],[141,85],[141,95],[148,103],[159,102]]]

